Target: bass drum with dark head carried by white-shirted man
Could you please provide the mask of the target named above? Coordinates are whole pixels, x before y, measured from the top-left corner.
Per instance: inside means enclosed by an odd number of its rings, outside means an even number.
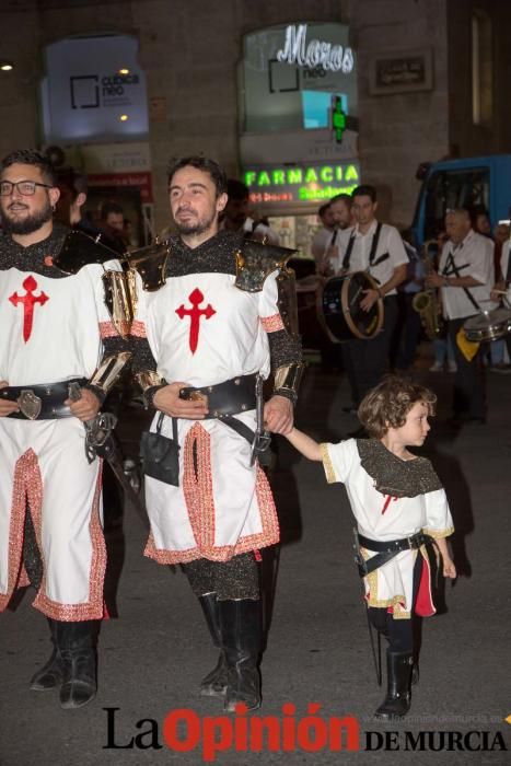
[[[327,279],[320,293],[318,317],[330,340],[371,340],[383,325],[383,301],[379,299],[370,311],[360,302],[364,290],[378,290],[374,279],[365,271],[353,271]]]

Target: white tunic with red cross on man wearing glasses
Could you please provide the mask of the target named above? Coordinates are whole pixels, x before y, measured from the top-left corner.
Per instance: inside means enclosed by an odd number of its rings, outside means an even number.
[[[55,249],[55,241],[49,241]],[[28,253],[28,249],[26,251]],[[89,379],[115,333],[106,306],[104,267],[77,275],[44,268],[0,269],[0,380],[12,386]],[[26,269],[26,257],[24,257]],[[116,263],[105,268],[118,269]],[[84,427],[56,420],[0,418],[0,611],[26,584],[22,561],[30,508],[43,564],[34,606],[59,620],[103,616],[106,565],[101,461],[88,463]]]

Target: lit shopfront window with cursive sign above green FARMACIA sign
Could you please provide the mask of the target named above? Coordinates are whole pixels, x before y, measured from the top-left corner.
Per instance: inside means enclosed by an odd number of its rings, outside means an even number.
[[[245,35],[239,103],[254,202],[304,208],[357,185],[357,58],[346,24],[302,21]]]

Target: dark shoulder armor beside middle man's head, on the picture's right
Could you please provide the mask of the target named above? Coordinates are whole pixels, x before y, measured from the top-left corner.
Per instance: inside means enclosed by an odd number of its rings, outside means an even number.
[[[236,280],[234,285],[246,292],[260,292],[266,277],[278,269],[288,271],[286,263],[295,253],[289,247],[265,245],[245,240],[236,252]]]

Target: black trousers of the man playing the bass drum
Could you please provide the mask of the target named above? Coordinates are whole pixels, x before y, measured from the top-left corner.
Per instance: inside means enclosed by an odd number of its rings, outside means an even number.
[[[355,339],[342,344],[342,362],[356,407],[359,406],[365,394],[381,382],[385,374],[397,314],[397,297],[385,298],[381,333],[371,340]]]

